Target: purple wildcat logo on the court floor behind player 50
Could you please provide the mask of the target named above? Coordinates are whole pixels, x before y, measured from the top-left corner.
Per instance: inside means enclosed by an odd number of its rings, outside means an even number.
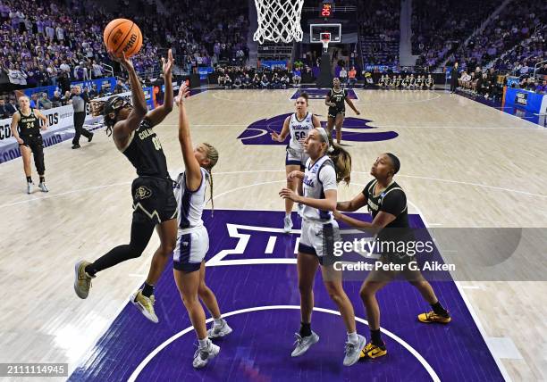
[[[290,115],[291,113],[287,113],[265,120],[257,120],[248,125],[238,139],[241,140],[243,145],[287,145],[290,137],[287,137],[283,143],[275,142],[270,137],[270,132],[275,131],[280,133],[285,118]],[[399,137],[399,134],[395,131],[378,131],[381,128],[368,126],[369,122],[371,122],[371,120],[347,117],[344,120],[344,126],[342,128],[342,139],[350,142],[378,142]],[[326,128],[326,121],[322,121],[321,126]],[[332,131],[332,137],[335,137],[334,134],[335,132]]]

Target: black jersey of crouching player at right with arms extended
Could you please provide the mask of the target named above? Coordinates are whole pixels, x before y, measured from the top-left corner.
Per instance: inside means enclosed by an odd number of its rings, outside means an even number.
[[[378,212],[383,211],[396,216],[395,220],[385,228],[408,228],[407,195],[405,192],[393,181],[382,193],[374,195],[374,187],[377,183],[376,179],[371,180],[363,189],[368,212],[372,215],[373,220]]]

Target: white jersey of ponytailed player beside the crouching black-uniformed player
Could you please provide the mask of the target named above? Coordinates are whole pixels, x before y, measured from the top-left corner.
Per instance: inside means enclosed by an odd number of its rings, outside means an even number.
[[[304,174],[302,182],[305,197],[324,199],[324,191],[337,189],[334,163],[327,155],[318,159],[314,164],[312,164],[311,158],[308,158]],[[305,220],[324,222],[332,220],[332,212],[318,210],[308,205],[304,205],[303,216]]]

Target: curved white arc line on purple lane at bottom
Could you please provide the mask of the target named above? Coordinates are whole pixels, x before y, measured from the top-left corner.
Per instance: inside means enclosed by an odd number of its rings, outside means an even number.
[[[240,309],[238,311],[229,311],[227,313],[223,313],[223,317],[235,316],[237,314],[248,313],[250,311],[271,311],[271,310],[288,310],[288,309],[290,309],[290,310],[299,310],[300,307],[298,305],[255,306],[253,308]],[[319,312],[322,312],[322,313],[329,313],[329,314],[332,314],[332,315],[335,315],[335,316],[340,316],[341,315],[339,311],[332,311],[331,309],[324,309],[324,308],[314,307],[314,311],[319,311]],[[359,317],[356,317],[355,320],[362,323],[362,324],[368,325],[367,320],[361,319]],[[212,318],[207,319],[206,323],[211,322],[211,321],[213,321]],[[147,366],[148,362],[152,361],[152,359],[154,357],[156,357],[157,353],[160,353],[162,350],[164,350],[165,347],[167,347],[168,345],[171,345],[174,341],[179,339],[181,336],[184,336],[185,334],[189,333],[193,329],[194,328],[191,327],[191,326],[189,328],[185,328],[184,330],[181,330],[179,333],[175,334],[174,336],[171,336],[170,338],[166,339],[163,344],[157,346],[156,349],[154,349],[151,353],[149,353],[147,355],[147,357],[139,363],[139,366],[137,366],[137,368],[130,375],[130,378],[128,379],[128,382],[134,382],[135,380],[137,380],[137,378],[139,377],[140,372],[142,370],[144,370],[144,368]],[[416,349],[414,349],[412,346],[408,345],[408,343],[405,340],[400,338],[400,336],[395,335],[391,331],[389,331],[385,328],[381,328],[381,330],[386,336],[390,336],[393,340],[395,340],[400,345],[402,345],[405,349],[407,349],[409,353],[411,353],[414,357],[416,357],[417,361],[419,361],[422,364],[422,366],[424,366],[425,370],[427,371],[429,376],[433,379],[433,381],[435,381],[435,382],[440,382],[441,381],[441,378],[439,378],[439,376],[437,375],[435,370],[433,370],[431,365],[427,361],[425,361],[425,358],[422,357],[422,355],[420,353],[418,353]]]

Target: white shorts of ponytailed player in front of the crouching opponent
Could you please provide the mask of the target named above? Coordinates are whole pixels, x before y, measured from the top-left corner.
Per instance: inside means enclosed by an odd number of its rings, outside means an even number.
[[[329,222],[302,220],[299,252],[316,255],[322,265],[333,263],[334,243],[341,241],[336,220]]]

